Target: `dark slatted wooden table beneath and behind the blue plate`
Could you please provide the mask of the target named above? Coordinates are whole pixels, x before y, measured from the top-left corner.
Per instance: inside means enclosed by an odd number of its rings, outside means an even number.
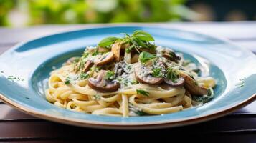
[[[151,25],[222,36],[246,49],[256,51],[256,22],[165,23]],[[0,54],[20,41],[60,31],[95,26],[102,25],[47,25],[23,29],[0,28]],[[192,138],[179,138],[178,135],[180,134],[186,134],[186,136],[191,136]],[[81,139],[86,142],[88,137],[93,136],[100,138],[105,136],[105,139],[113,139],[115,136],[129,137],[128,139],[147,139],[148,137],[157,139],[159,135],[169,137],[171,140],[178,138],[180,140],[207,139],[207,142],[256,142],[256,102],[252,102],[252,104],[243,107],[237,112],[210,122],[173,129],[147,131],[113,131],[72,127],[29,116],[0,102],[0,142],[73,142],[74,139]]]

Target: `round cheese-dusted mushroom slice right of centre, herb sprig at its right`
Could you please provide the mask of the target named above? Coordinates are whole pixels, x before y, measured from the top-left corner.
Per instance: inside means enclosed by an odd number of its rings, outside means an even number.
[[[134,70],[135,77],[138,82],[142,84],[161,84],[163,82],[162,77],[153,77],[151,75],[152,69],[146,65],[137,64]]]

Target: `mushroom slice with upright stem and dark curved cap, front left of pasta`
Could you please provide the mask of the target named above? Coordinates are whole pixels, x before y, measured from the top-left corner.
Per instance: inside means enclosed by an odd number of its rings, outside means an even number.
[[[88,85],[98,92],[115,92],[120,87],[120,84],[118,82],[105,80],[104,77],[106,74],[107,71],[101,70],[96,79],[93,77],[88,79]]]

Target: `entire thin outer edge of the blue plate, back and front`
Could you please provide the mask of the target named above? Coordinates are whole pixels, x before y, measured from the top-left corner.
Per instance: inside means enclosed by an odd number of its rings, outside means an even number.
[[[203,36],[209,36],[214,39],[219,39],[224,41],[227,44],[237,46],[236,44],[233,44],[232,41],[229,41],[228,39],[224,39],[222,37],[218,36],[212,36],[211,34],[204,34],[204,33],[199,33],[195,31],[189,31],[189,30],[184,30],[184,29],[179,29],[179,28],[171,28],[168,26],[163,26],[163,27],[157,27],[157,24],[146,26],[143,24],[139,25],[134,25],[134,24],[108,24],[106,26],[93,26],[90,28],[81,28],[81,29],[75,29],[75,30],[68,30],[68,31],[60,31],[56,32],[54,34],[48,34],[45,36],[39,36],[34,39],[29,39],[27,41],[22,41],[19,44],[16,44],[15,46],[12,46],[10,49],[5,51],[3,54],[9,53],[9,51],[12,51],[14,49],[19,48],[19,46],[22,46],[26,44],[27,42],[34,41],[37,39],[42,39],[47,36],[56,36],[57,34],[67,34],[70,32],[75,32],[75,31],[81,31],[81,30],[87,30],[87,29],[99,29],[99,28],[114,28],[114,27],[146,27],[146,28],[161,28],[161,29],[169,29],[169,30],[178,30],[178,31],[184,31],[184,32],[189,32],[192,34],[200,34]],[[241,46],[237,46],[238,49],[251,53],[251,51],[247,49],[243,49]],[[241,107],[244,107],[247,104],[250,104],[256,99],[256,93],[252,94],[250,97],[247,99],[243,100],[242,102],[238,104],[234,104],[232,107],[226,108],[226,109],[221,109],[218,112],[210,113],[210,114],[205,114],[205,115],[198,115],[186,119],[176,119],[173,121],[161,121],[161,122],[133,122],[133,123],[110,123],[110,122],[95,122],[91,120],[86,120],[86,119],[69,119],[67,117],[59,117],[56,115],[49,115],[49,114],[42,114],[38,111],[35,111],[33,109],[29,109],[29,107],[22,106],[22,104],[19,104],[17,102],[12,101],[11,99],[8,99],[4,94],[0,94],[0,99],[2,99],[6,104],[10,104],[11,107],[14,107],[15,109],[18,109],[19,111],[25,112],[27,114],[30,114],[34,117],[39,117],[42,119],[47,119],[53,122],[59,122],[62,124],[72,124],[80,127],[93,127],[93,128],[101,128],[101,129],[156,129],[156,128],[164,128],[164,127],[177,127],[177,126],[182,126],[186,124],[196,124],[198,122],[205,122],[211,119],[216,119],[217,117],[222,117],[225,114],[229,112],[233,112],[236,109],[239,109]]]

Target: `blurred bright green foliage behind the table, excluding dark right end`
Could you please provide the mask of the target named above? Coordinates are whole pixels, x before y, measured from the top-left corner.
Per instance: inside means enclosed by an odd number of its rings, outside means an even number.
[[[12,25],[10,17],[14,14],[25,14],[29,25],[191,20],[192,13],[184,3],[185,0],[0,0],[0,25]]]

